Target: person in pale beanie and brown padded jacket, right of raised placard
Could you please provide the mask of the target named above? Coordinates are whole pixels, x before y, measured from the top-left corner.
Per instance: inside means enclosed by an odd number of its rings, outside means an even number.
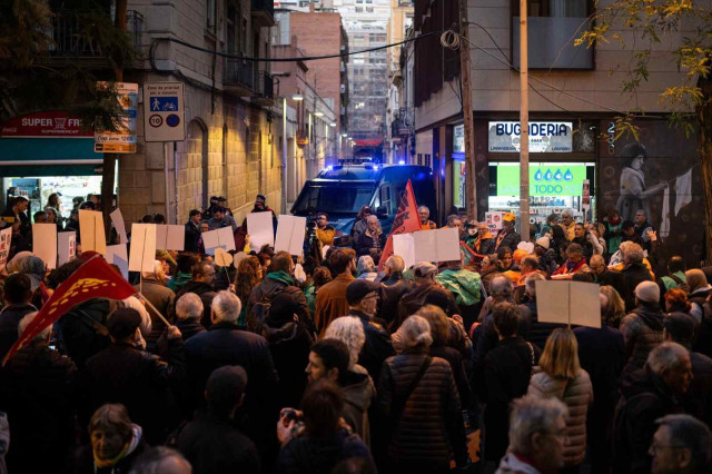
[[[655,282],[641,282],[634,294],[635,308],[621,322],[625,349],[631,354],[624,374],[643,368],[650,352],[663,340],[660,287]]]

